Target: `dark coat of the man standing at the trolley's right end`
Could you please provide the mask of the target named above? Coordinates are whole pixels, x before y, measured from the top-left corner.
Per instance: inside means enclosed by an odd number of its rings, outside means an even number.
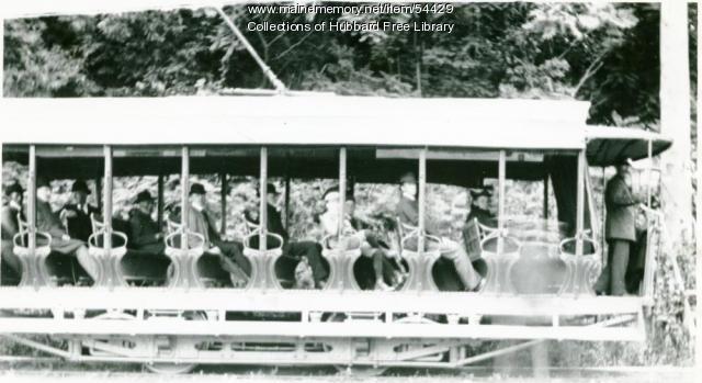
[[[604,189],[607,221],[604,235],[607,239],[636,240],[636,200],[631,189],[620,176],[612,177]]]

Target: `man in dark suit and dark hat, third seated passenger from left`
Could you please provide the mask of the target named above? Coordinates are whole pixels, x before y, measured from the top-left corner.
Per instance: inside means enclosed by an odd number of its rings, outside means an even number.
[[[66,227],[68,235],[71,238],[78,238],[82,241],[88,241],[88,238],[92,234],[92,223],[90,222],[90,214],[100,214],[100,210],[88,203],[88,195],[90,189],[83,180],[76,180],[71,185],[71,202],[60,211],[61,221],[66,221]]]

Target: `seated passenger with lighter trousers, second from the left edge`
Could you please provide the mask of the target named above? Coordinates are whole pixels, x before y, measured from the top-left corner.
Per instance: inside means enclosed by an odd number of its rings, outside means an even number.
[[[99,275],[100,266],[97,259],[88,254],[86,244],[76,238],[71,238],[61,224],[58,214],[52,211],[49,200],[52,198],[52,188],[48,181],[38,179],[36,182],[36,228],[39,232],[48,233],[52,236],[52,251],[63,255],[73,255],[78,259],[80,266],[86,269],[88,275],[93,281]]]

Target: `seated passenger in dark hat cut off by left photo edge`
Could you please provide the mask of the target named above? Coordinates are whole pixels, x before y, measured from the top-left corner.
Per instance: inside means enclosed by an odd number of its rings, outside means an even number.
[[[14,236],[20,233],[20,223],[18,214],[22,215],[22,199],[24,190],[18,181],[4,188],[2,204],[2,248],[0,248],[0,258],[2,262],[10,267],[18,277],[22,275],[22,262],[14,255]]]

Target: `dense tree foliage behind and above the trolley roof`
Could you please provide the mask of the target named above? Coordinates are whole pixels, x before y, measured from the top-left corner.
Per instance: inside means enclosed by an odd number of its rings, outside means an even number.
[[[467,3],[444,14],[227,13],[291,89],[589,100],[593,123],[658,119],[655,4]],[[453,33],[253,32],[250,21],[453,23]],[[168,95],[270,88],[210,10],[14,20],[5,95]],[[613,117],[614,116],[614,117]]]

